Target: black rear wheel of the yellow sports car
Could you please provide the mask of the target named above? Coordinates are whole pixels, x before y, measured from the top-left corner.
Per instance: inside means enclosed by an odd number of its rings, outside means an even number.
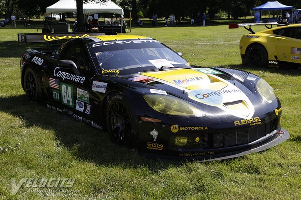
[[[250,67],[267,67],[268,55],[260,44],[251,45],[246,52],[246,62]]]

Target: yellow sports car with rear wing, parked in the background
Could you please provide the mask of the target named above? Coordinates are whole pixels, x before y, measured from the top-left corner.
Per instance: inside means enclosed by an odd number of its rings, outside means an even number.
[[[268,29],[255,33],[251,29],[252,25],[265,25]],[[280,27],[272,28],[272,25]],[[301,24],[229,24],[229,28],[238,27],[244,27],[251,32],[243,35],[240,40],[242,63],[251,67],[301,66]]]

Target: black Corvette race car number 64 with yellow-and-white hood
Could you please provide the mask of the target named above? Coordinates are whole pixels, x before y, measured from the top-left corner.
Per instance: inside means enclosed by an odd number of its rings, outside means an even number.
[[[192,66],[143,36],[19,35],[25,42],[70,38],[53,51],[26,50],[21,85],[30,101],[106,130],[120,145],[148,156],[214,160],[289,138],[273,89],[249,72]]]

